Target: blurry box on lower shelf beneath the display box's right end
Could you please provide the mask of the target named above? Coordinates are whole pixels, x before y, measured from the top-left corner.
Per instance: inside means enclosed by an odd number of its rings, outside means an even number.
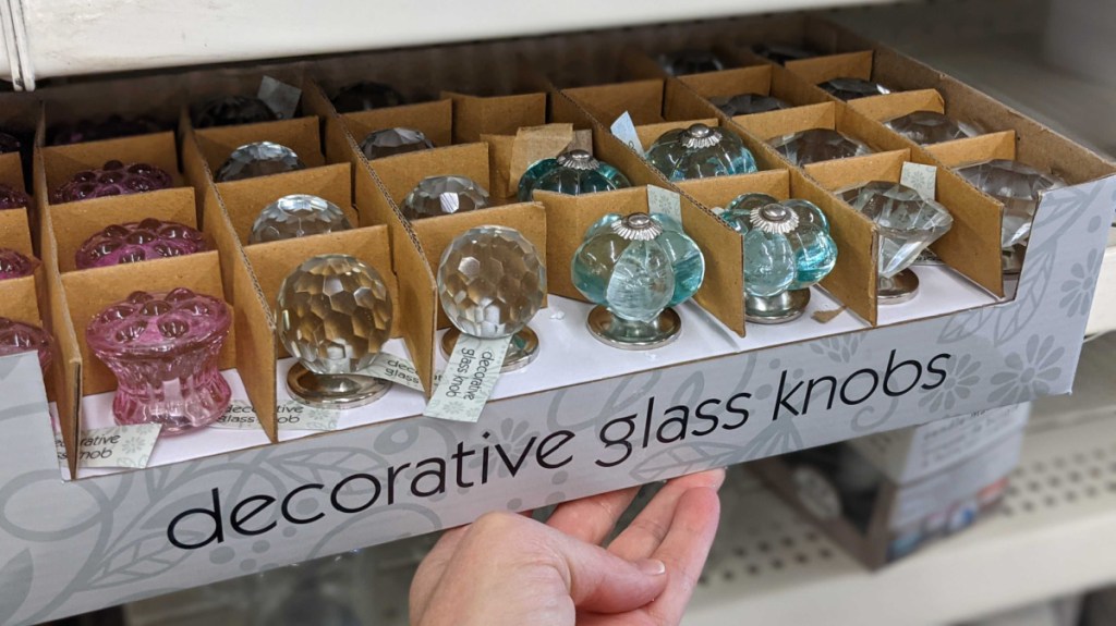
[[[852,439],[749,468],[870,568],[965,530],[1003,497],[1030,404]]]

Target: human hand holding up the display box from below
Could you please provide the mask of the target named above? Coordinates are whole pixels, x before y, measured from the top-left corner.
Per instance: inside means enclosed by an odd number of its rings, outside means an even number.
[[[415,626],[667,626],[720,520],[724,470],[666,485],[607,549],[638,488],[559,505],[546,524],[488,513],[448,530],[411,584]]]

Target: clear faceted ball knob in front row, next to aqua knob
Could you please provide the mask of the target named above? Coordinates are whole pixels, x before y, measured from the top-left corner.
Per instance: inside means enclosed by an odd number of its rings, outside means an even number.
[[[453,352],[460,333],[481,339],[511,335],[502,371],[522,368],[538,353],[528,322],[542,306],[547,270],[535,245],[504,226],[470,228],[450,243],[437,267],[437,295],[453,324],[442,350]]]

